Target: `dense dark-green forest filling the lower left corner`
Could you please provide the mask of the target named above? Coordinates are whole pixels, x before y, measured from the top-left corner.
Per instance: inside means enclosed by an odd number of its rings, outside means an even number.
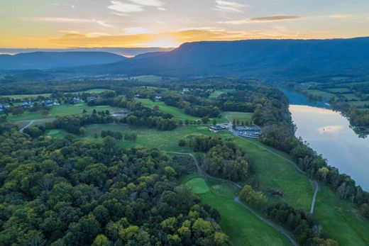
[[[219,213],[179,185],[182,161],[120,149],[109,136],[97,145],[8,128],[0,245],[231,245]]]

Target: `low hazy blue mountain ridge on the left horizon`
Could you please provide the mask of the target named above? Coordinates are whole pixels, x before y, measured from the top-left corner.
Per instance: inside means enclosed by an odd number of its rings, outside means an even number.
[[[55,69],[101,65],[126,59],[109,52],[30,52],[0,55],[0,69]]]

